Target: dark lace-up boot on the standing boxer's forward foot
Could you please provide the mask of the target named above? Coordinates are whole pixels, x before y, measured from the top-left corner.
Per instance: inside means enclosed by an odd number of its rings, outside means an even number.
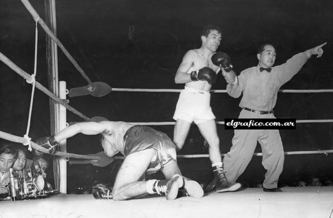
[[[215,177],[215,190],[217,192],[235,191],[240,188],[241,184],[236,182],[229,182],[225,178],[224,170],[220,166],[213,167],[214,177]]]

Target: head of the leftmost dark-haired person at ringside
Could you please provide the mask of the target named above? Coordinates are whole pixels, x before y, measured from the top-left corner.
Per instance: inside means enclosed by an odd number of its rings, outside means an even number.
[[[6,173],[13,166],[16,159],[17,151],[14,145],[0,145],[0,172]]]

